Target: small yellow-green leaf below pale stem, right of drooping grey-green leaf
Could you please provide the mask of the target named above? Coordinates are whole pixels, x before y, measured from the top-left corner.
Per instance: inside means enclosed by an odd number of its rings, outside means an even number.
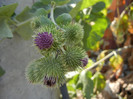
[[[93,81],[94,81],[95,91],[101,91],[101,90],[104,89],[104,87],[105,87],[105,78],[100,72],[97,72],[93,76]]]

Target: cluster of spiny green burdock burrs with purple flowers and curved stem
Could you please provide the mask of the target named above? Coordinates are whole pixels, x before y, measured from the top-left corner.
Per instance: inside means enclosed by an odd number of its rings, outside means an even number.
[[[50,18],[41,15],[33,18],[31,22],[35,32],[33,42],[42,57],[27,66],[26,78],[30,83],[60,87],[65,83],[65,74],[86,66],[88,58],[80,45],[84,35],[83,27],[79,23],[71,22],[69,14],[57,17],[57,24],[53,17],[53,1]],[[60,18],[66,18],[67,21],[67,15],[68,22],[63,24]]]

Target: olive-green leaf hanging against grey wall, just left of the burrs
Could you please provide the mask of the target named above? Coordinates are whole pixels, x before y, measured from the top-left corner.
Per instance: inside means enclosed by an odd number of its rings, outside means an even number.
[[[30,26],[31,20],[24,21],[18,25],[16,32],[23,37],[25,40],[28,40],[33,35],[33,31]]]

